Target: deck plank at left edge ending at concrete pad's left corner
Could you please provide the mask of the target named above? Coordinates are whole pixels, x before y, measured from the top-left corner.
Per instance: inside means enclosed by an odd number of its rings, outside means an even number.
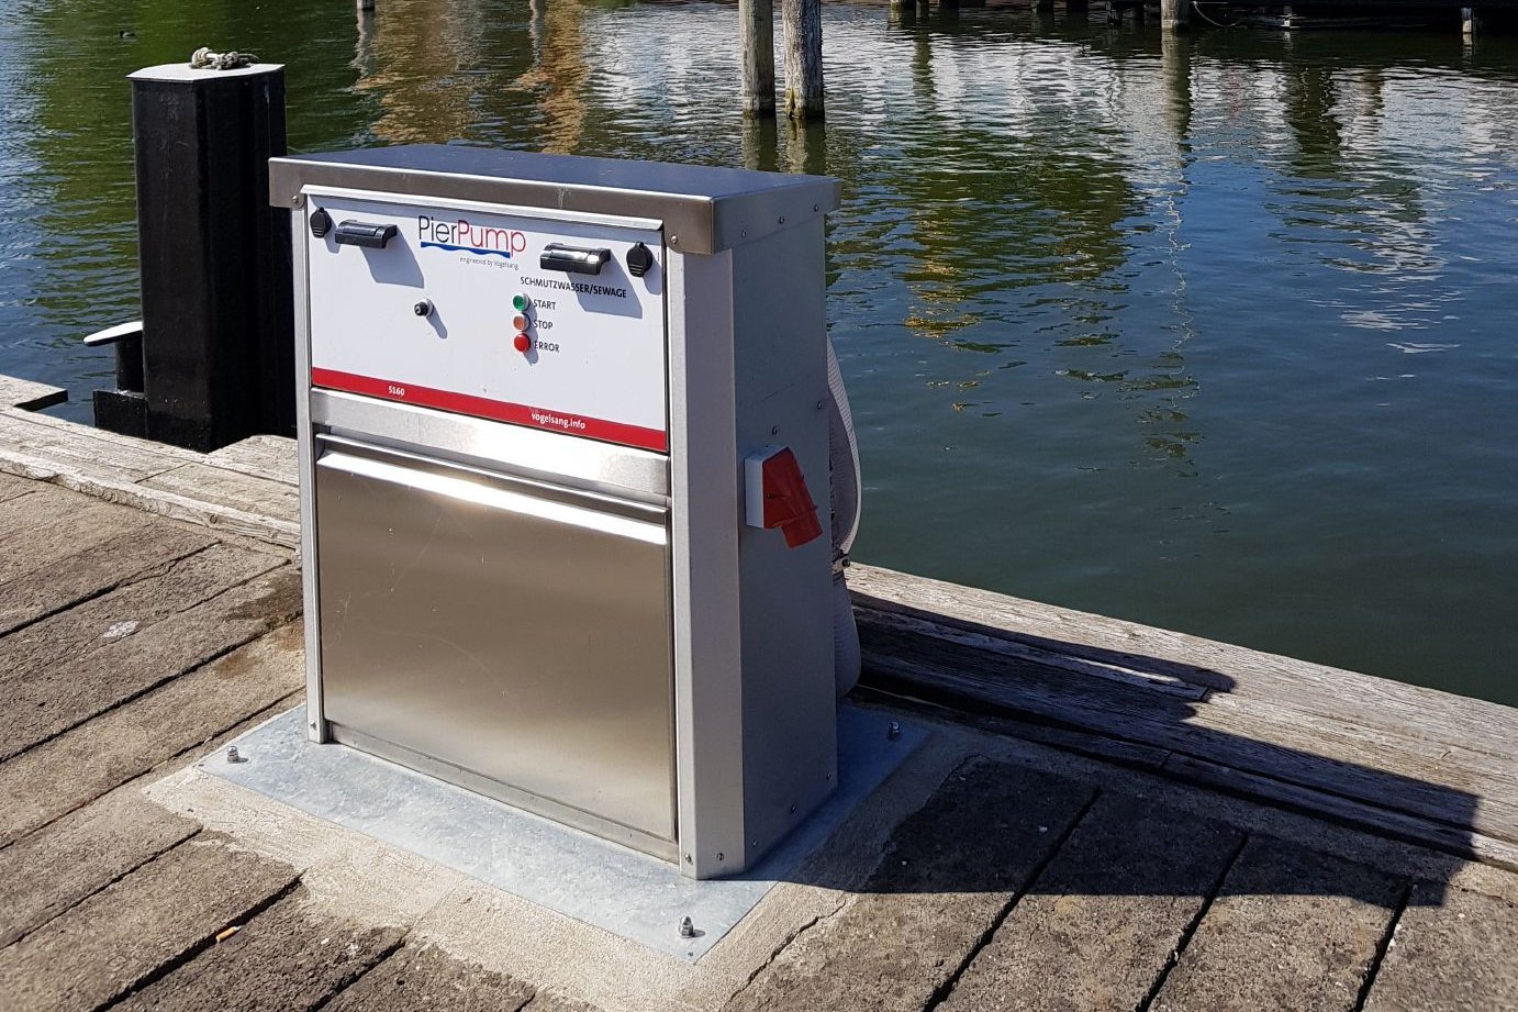
[[[199,830],[126,784],[0,849],[0,948]]]

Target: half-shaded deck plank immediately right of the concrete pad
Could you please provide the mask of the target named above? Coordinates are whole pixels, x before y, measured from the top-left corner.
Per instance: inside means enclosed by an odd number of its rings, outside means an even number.
[[[786,945],[727,1012],[920,1012],[1091,796],[1085,784],[1020,766],[961,766],[896,828],[864,887]]]

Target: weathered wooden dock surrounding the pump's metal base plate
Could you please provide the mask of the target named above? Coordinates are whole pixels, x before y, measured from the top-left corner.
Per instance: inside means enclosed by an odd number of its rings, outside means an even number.
[[[929,743],[698,963],[249,801],[293,473],[0,406],[8,1012],[1518,1009],[1518,711],[870,567]]]

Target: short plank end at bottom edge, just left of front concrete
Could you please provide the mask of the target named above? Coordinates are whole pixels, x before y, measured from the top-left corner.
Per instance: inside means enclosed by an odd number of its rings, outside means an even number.
[[[534,1009],[545,1004],[515,977],[433,947],[404,945],[322,1007],[325,1012],[518,1012],[528,1001]]]

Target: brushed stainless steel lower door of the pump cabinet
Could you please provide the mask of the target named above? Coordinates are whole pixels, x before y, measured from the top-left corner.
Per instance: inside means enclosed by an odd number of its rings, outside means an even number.
[[[317,453],[334,735],[672,855],[668,511],[349,441]]]

